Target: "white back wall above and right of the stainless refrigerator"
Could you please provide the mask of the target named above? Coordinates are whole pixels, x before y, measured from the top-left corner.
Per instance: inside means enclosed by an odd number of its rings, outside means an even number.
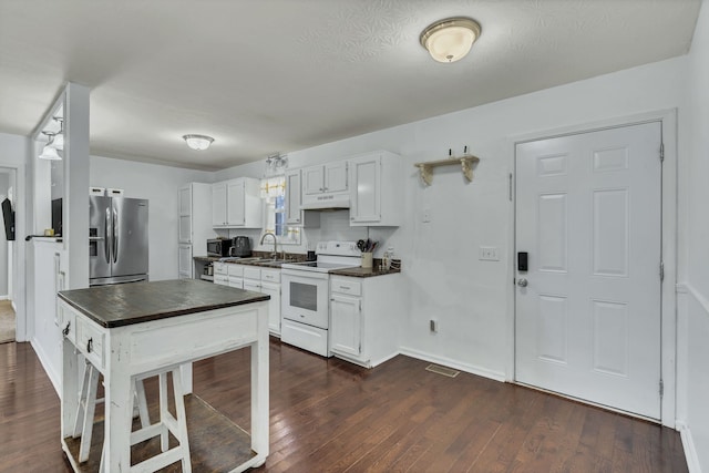
[[[150,200],[151,280],[177,278],[177,189],[212,179],[213,173],[203,171],[91,156],[90,185],[122,188],[126,197]]]

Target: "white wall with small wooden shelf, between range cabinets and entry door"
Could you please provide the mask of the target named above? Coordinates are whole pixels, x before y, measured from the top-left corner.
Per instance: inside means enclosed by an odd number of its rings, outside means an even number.
[[[603,75],[475,109],[382,130],[336,143],[289,152],[290,167],[345,158],[377,148],[404,157],[402,207],[398,229],[371,229],[403,260],[409,294],[404,351],[496,379],[505,377],[507,295],[512,264],[512,204],[507,174],[513,138],[577,124],[677,107],[681,103],[687,58]],[[481,162],[467,184],[461,172],[434,171],[424,187],[413,164],[440,160],[467,145]],[[245,167],[245,166],[244,166]],[[261,167],[263,168],[263,167]],[[260,168],[259,168],[260,171]],[[217,178],[248,175],[254,166],[217,173]],[[421,222],[423,208],[431,223]],[[325,228],[325,226],[322,226]],[[329,238],[328,230],[318,235]],[[480,261],[480,246],[500,248],[500,261]],[[439,332],[429,332],[429,319]]]

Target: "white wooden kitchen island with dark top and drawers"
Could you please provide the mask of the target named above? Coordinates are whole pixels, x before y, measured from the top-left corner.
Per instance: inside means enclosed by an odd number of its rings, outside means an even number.
[[[191,463],[195,472],[261,465],[268,455],[268,299],[194,279],[60,291],[62,448],[74,471],[97,471],[102,446],[105,471],[150,471],[136,463],[142,455],[160,455],[161,449],[146,454],[131,448],[134,382],[182,367],[182,390],[191,393],[193,361],[243,347],[251,349],[250,435],[188,394]],[[105,413],[94,424],[89,461],[79,463],[79,440],[72,433],[85,362],[103,374]],[[217,445],[220,452],[214,451]]]

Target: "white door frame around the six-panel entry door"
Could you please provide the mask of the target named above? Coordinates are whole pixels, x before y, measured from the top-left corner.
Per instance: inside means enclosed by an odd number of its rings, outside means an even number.
[[[613,117],[596,122],[569,125],[559,128],[540,131],[508,137],[510,156],[510,232],[507,265],[510,286],[507,289],[507,353],[505,360],[505,381],[516,382],[515,377],[515,225],[516,225],[516,146],[517,144],[596,132],[618,126],[638,125],[660,122],[665,161],[662,164],[662,215],[661,215],[661,250],[665,264],[665,279],[661,286],[660,305],[660,376],[664,383],[664,395],[660,401],[660,422],[662,425],[676,428],[677,409],[677,109],[659,110],[641,114]],[[659,271],[659,268],[658,268]],[[605,409],[608,409],[605,407]]]

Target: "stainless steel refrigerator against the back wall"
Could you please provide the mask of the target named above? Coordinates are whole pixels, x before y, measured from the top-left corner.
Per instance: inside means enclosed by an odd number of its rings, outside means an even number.
[[[89,285],[147,280],[147,199],[89,199]]]

